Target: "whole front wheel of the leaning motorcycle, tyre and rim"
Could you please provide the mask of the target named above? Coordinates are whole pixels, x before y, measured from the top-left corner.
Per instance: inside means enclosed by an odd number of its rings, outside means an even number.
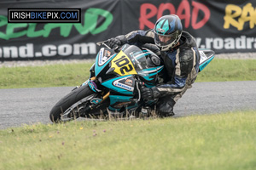
[[[90,99],[96,94],[88,85],[74,89],[72,92],[62,98],[49,112],[51,122],[67,122],[79,117],[79,111],[82,110]]]

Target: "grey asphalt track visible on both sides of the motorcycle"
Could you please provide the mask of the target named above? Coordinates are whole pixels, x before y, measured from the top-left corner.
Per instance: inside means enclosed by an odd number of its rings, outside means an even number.
[[[0,89],[0,129],[50,123],[49,111],[72,89]],[[248,110],[256,113],[256,81],[195,82],[174,108],[176,117]]]

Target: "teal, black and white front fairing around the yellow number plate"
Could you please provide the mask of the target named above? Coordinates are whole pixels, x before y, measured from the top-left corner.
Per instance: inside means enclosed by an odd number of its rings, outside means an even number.
[[[154,87],[158,74],[164,67],[152,64],[151,58],[158,58],[158,56],[147,48],[125,44],[121,51],[131,60],[136,74],[120,76],[113,71],[114,69],[111,69],[112,60],[119,55],[113,53],[113,50],[101,48],[96,56],[95,76],[101,79],[103,87],[110,90],[110,105],[108,107],[110,111],[119,111],[124,105],[129,109],[137,108],[137,103],[131,102],[131,99],[138,97],[137,79],[142,79],[147,87]],[[96,92],[96,88],[92,86],[94,83],[89,84],[90,88]]]

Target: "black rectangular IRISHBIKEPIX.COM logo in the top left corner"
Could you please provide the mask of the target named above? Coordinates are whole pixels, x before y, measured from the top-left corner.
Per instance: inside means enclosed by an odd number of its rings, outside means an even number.
[[[9,23],[80,23],[81,8],[8,8]]]

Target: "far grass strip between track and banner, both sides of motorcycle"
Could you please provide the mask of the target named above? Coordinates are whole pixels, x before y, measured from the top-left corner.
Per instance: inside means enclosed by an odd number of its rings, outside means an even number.
[[[0,68],[0,88],[77,86],[90,75],[92,63]],[[256,59],[213,59],[196,82],[256,80]]]

